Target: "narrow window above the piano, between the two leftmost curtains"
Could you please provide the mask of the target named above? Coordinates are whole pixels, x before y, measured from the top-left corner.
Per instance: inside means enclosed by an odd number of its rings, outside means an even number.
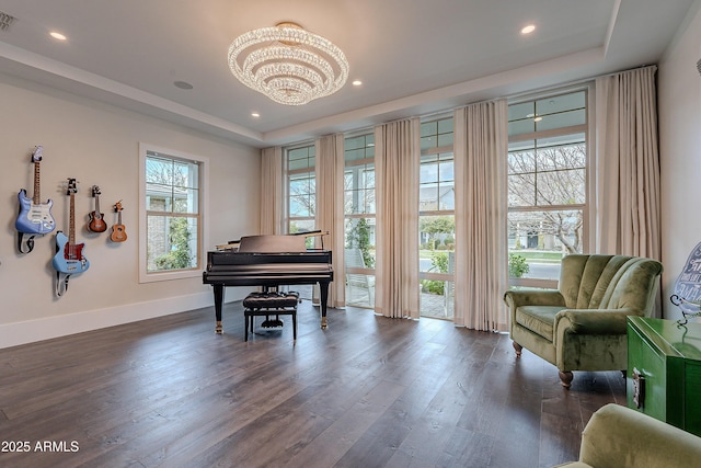
[[[314,145],[286,149],[287,155],[287,231],[314,230],[317,214],[317,179]],[[307,239],[312,247],[313,238]]]

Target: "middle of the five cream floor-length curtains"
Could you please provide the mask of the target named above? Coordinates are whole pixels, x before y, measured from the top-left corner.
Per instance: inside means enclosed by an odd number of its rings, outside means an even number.
[[[418,318],[418,118],[375,127],[375,310]]]

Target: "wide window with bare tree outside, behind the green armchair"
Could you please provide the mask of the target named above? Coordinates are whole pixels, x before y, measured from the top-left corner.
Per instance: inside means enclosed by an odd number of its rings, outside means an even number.
[[[509,105],[512,285],[555,286],[562,256],[581,253],[586,244],[587,94]]]

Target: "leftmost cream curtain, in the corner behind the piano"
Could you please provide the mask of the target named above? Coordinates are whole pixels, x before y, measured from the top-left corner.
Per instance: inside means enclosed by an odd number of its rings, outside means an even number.
[[[261,150],[260,233],[283,233],[283,148],[265,148]]]

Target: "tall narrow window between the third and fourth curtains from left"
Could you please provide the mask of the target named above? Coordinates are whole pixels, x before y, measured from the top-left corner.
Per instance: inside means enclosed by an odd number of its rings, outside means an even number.
[[[421,315],[447,319],[453,316],[456,195],[452,139],[452,117],[421,125]]]

